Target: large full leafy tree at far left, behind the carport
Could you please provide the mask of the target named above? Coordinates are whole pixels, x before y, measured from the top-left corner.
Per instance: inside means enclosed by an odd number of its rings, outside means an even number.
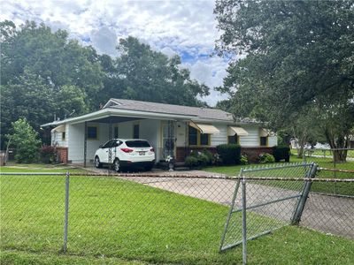
[[[40,125],[54,115],[64,118],[98,109],[104,73],[95,49],[33,21],[16,28],[6,20],[0,30],[2,145],[19,117],[40,132]]]

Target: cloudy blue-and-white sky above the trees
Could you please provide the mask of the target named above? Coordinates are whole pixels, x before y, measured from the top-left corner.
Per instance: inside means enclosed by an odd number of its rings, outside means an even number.
[[[117,56],[119,39],[131,35],[168,57],[180,55],[191,78],[212,88],[221,86],[227,74],[227,59],[212,56],[219,38],[214,4],[213,0],[8,0],[1,1],[1,20],[10,19],[17,26],[26,20],[44,22],[112,57]],[[202,100],[214,106],[226,98],[211,89]]]

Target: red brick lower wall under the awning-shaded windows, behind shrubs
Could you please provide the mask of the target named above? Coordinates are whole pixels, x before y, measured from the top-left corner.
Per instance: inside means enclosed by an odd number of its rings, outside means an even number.
[[[176,161],[184,162],[186,156],[190,154],[191,151],[203,151],[207,149],[212,152],[212,154],[216,153],[216,148],[176,148]],[[250,163],[258,162],[258,155],[261,153],[268,153],[273,155],[273,148],[267,147],[254,147],[254,148],[242,148],[241,147],[241,155],[247,155]]]

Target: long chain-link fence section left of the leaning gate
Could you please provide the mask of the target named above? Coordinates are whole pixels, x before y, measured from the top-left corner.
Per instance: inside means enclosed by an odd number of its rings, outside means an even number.
[[[2,248],[144,261],[169,254],[173,261],[190,249],[203,260],[217,251],[236,183],[181,174],[1,173],[0,180]]]

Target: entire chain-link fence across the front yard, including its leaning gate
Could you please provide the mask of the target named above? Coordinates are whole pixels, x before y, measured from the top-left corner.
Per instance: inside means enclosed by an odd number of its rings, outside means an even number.
[[[344,178],[310,182],[313,166],[245,169],[242,178],[3,172],[0,246],[153,262],[170,255],[168,260],[177,263],[181,260],[173,254],[194,249],[203,261],[205,253],[218,249],[227,216],[224,246],[242,241],[244,228],[252,239],[289,223],[354,239],[354,183]],[[235,193],[243,178],[249,216],[244,225],[242,193]],[[302,209],[301,199],[307,199]]]

